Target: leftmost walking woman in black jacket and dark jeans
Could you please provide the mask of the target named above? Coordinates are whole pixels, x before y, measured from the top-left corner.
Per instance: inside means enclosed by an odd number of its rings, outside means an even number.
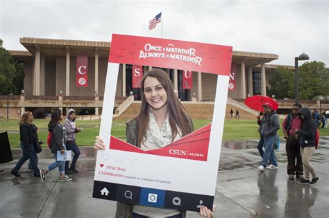
[[[18,173],[22,165],[30,159],[30,164],[33,170],[33,175],[39,177],[39,168],[37,167],[37,153],[35,147],[37,147],[37,127],[33,125],[33,114],[31,111],[26,111],[19,122],[19,134],[20,134],[20,147],[23,151],[23,156],[19,158],[15,167],[11,170],[11,174],[16,177],[21,175]]]

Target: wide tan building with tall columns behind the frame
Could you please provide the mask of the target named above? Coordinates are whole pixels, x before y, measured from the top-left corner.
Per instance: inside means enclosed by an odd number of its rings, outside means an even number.
[[[19,118],[28,110],[51,111],[54,108],[93,108],[101,113],[106,82],[110,42],[79,41],[67,39],[40,39],[24,37],[20,43],[26,51],[10,51],[15,60],[24,66],[24,90],[21,96],[10,96],[10,117]],[[87,56],[87,87],[76,84],[78,56]],[[248,96],[266,96],[269,78],[277,65],[271,61],[278,55],[233,51],[232,73],[228,98],[243,100]],[[287,66],[290,67],[291,66]],[[152,66],[143,66],[148,71]],[[192,73],[192,89],[183,89],[183,69],[164,69],[178,91],[182,102],[213,102],[217,75]],[[132,65],[119,66],[116,106],[134,96],[140,100],[140,89],[132,86]],[[0,116],[6,118],[6,99],[0,98]],[[64,110],[65,111],[65,110]]]

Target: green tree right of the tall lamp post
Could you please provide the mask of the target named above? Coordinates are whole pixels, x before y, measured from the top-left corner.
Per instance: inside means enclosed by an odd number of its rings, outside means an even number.
[[[299,67],[300,99],[314,100],[329,96],[329,69],[323,62],[306,62]]]

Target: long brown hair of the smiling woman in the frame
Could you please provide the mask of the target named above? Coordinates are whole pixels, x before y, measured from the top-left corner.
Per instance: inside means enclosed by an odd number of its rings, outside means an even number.
[[[157,79],[162,87],[167,92],[167,109],[169,114],[169,125],[171,127],[172,132],[172,140],[178,134],[178,129],[182,131],[183,136],[191,133],[193,131],[192,124],[187,117],[187,112],[182,105],[182,103],[178,100],[178,97],[174,93],[174,85],[172,84],[169,76],[165,71],[161,69],[152,69],[148,73],[146,73],[142,80],[142,106],[140,108],[140,114],[137,116],[138,120],[138,134],[137,134],[137,145],[142,143],[144,139],[146,129],[149,127],[149,104],[146,102],[144,96],[144,82],[145,79],[149,76]]]

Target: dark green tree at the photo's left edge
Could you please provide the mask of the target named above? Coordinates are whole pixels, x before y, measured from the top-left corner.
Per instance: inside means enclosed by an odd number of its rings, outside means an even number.
[[[23,83],[23,66],[15,62],[12,55],[3,48],[3,41],[0,39],[0,95],[6,95],[8,91],[19,94]]]

